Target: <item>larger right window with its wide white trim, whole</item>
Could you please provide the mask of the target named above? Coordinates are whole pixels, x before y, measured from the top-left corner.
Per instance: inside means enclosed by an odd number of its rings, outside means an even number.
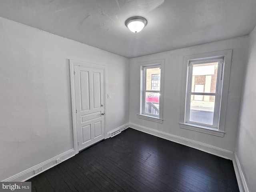
[[[180,128],[224,136],[232,50],[184,57]]]

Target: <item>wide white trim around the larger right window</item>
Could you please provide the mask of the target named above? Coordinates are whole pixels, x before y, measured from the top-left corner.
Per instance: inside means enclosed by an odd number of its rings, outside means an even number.
[[[188,71],[188,64],[189,61],[196,61],[202,58],[205,59],[216,59],[224,57],[224,74],[222,76],[222,96],[221,96],[221,103],[220,103],[220,118],[218,128],[212,128],[210,126],[186,123],[185,120],[185,113],[186,113],[186,91],[188,88],[187,83],[187,76],[189,74]],[[210,52],[210,53],[203,53],[203,54],[196,54],[190,56],[184,56],[183,58],[183,76],[182,76],[182,103],[181,103],[181,110],[180,110],[180,128],[194,130],[197,132],[203,132],[206,134],[212,134],[215,136],[224,137],[225,133],[225,122],[226,122],[226,108],[228,102],[228,88],[229,88],[229,80],[230,80],[230,68],[231,68],[231,58],[232,58],[232,50],[223,50],[217,52]]]

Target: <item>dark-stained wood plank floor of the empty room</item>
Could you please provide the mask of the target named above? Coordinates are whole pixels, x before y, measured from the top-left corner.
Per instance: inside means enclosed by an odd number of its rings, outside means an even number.
[[[37,192],[239,192],[231,160],[131,128],[28,181]]]

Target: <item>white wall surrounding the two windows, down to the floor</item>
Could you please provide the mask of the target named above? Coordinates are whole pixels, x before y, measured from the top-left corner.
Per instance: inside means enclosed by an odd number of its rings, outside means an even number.
[[[248,36],[161,52],[130,59],[130,118],[131,127],[154,134],[194,148],[224,156],[234,157],[234,148],[238,128],[241,91],[246,68],[246,47]],[[224,137],[214,136],[179,127],[183,57],[193,54],[232,49],[232,64],[226,126]],[[140,71],[139,62],[165,60],[163,124],[137,118],[140,111]],[[185,72],[186,73],[186,72]],[[185,75],[186,76],[186,75]]]

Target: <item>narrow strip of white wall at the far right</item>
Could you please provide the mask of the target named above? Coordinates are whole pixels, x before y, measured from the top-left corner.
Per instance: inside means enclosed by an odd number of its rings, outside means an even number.
[[[256,191],[256,28],[249,36],[236,155],[248,190]],[[245,186],[246,188],[246,186]]]

